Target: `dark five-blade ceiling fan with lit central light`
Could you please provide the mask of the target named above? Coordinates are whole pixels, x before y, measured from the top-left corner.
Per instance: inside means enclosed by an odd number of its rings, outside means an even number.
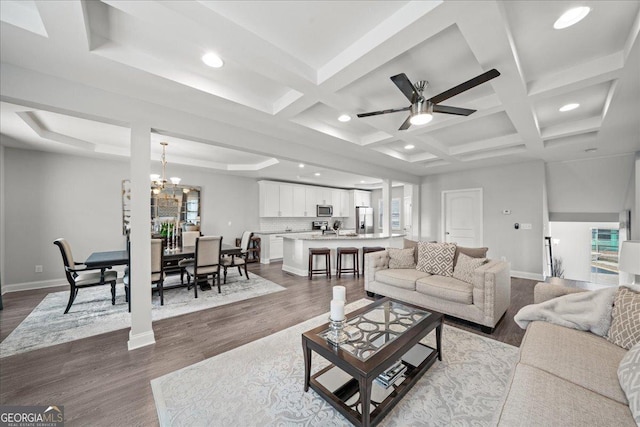
[[[482,73],[464,83],[460,83],[457,86],[452,87],[449,90],[445,90],[439,95],[433,96],[429,99],[425,99],[422,92],[427,88],[429,82],[426,80],[420,80],[416,84],[412,84],[406,74],[398,74],[391,77],[391,81],[398,86],[398,89],[404,96],[411,101],[411,105],[404,108],[392,108],[389,110],[373,111],[371,113],[360,113],[358,117],[377,116],[380,114],[397,113],[400,111],[411,110],[409,117],[402,123],[398,130],[409,129],[411,125],[423,125],[429,123],[433,119],[433,113],[455,114],[458,116],[468,116],[476,112],[476,110],[470,110],[468,108],[449,107],[446,105],[438,105],[440,102],[445,101],[453,96],[456,96],[462,92],[465,92],[471,88],[474,88],[482,83],[486,83],[491,79],[498,77],[500,73],[495,68]]]

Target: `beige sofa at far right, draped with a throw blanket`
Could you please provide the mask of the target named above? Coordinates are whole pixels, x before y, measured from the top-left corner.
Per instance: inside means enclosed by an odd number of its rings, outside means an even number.
[[[538,283],[535,302],[571,292]],[[627,350],[590,332],[532,322],[497,424],[635,426],[617,369]]]

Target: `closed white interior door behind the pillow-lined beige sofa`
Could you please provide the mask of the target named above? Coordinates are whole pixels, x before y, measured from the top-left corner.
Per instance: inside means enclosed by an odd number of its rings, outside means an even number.
[[[442,241],[482,246],[482,188],[442,192]]]

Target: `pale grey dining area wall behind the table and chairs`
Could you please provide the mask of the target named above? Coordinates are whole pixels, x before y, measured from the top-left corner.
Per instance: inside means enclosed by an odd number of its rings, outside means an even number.
[[[7,147],[4,164],[3,292],[63,279],[62,258],[53,245],[58,237],[69,241],[77,262],[94,251],[124,248],[121,182],[129,178],[128,161]],[[167,169],[183,183],[202,187],[204,234],[220,234],[233,243],[245,229],[258,228],[255,179],[171,163]],[[35,273],[36,265],[44,271]]]

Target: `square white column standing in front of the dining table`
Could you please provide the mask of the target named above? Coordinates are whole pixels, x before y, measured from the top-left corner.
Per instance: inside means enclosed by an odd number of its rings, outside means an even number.
[[[155,343],[151,327],[151,127],[131,127],[131,330],[129,350]]]

